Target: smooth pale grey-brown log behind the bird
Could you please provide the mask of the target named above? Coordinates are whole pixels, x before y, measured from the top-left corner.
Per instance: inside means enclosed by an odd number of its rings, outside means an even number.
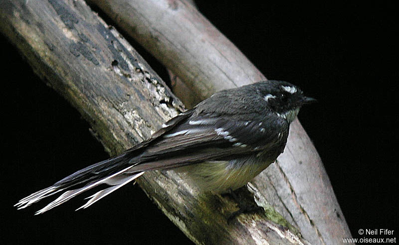
[[[217,90],[265,77],[193,6],[184,0],[90,0],[134,37],[191,91],[192,106]],[[278,162],[253,184],[268,204],[312,244],[351,237],[323,163],[299,121]]]

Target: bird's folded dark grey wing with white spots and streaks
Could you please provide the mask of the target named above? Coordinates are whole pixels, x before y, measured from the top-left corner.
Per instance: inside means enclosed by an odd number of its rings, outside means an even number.
[[[288,123],[277,116],[192,116],[149,144],[129,171],[170,169],[205,160],[228,160],[275,144],[285,145]],[[251,117],[247,117],[251,118]],[[278,152],[281,153],[281,152]]]

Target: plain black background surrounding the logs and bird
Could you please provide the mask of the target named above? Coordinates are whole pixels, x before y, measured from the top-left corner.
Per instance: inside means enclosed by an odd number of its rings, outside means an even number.
[[[245,2],[198,1],[198,7],[268,79],[292,82],[318,99],[299,119],[323,160],[352,235],[362,238],[359,229],[389,229],[397,235],[394,7]],[[190,244],[133,185],[84,211],[73,211],[84,203],[79,197],[39,216],[33,213],[45,202],[20,211],[12,207],[108,155],[89,124],[35,76],[4,36],[0,40],[1,202],[7,217],[1,230],[11,244]],[[167,80],[164,68],[132,44]]]

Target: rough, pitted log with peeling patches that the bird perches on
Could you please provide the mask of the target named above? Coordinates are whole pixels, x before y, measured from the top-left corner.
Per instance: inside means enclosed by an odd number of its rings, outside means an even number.
[[[92,125],[111,154],[149,137],[184,110],[139,54],[84,1],[1,3],[1,32]],[[230,199],[199,193],[173,171],[146,173],[139,184],[197,244],[308,244],[295,229],[264,214],[241,215],[227,224],[236,210]]]

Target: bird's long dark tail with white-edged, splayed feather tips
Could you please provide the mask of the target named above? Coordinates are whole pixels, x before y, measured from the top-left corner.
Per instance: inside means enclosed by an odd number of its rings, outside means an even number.
[[[131,168],[134,167],[135,164],[129,163],[129,160],[131,161],[131,158],[128,153],[124,153],[117,157],[93,164],[69,175],[50,187],[21,199],[14,206],[17,206],[18,209],[23,209],[43,198],[65,191],[57,199],[35,213],[36,215],[42,214],[93,187],[101,184],[110,186],[88,197],[90,200],[77,210],[87,208],[144,173],[144,171],[132,171]],[[75,187],[75,189],[72,189],[72,187]]]

